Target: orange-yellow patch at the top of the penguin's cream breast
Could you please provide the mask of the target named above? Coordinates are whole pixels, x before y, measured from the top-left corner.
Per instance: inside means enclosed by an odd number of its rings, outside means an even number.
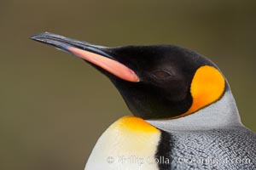
[[[133,132],[156,133],[160,132],[156,127],[153,127],[142,118],[136,116],[124,116],[114,123],[115,126],[131,130]]]

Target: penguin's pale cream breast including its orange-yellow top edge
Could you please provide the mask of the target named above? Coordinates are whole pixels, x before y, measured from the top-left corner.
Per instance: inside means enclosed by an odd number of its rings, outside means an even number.
[[[142,118],[124,116],[113,122],[98,139],[85,170],[158,169],[156,163],[151,163],[151,158],[157,152],[160,136],[160,130]]]

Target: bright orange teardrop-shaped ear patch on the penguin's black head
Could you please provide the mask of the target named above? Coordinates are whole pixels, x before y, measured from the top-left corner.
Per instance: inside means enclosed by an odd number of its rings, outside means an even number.
[[[201,66],[196,72],[190,86],[193,103],[181,116],[187,116],[217,101],[224,93],[225,80],[213,66]]]

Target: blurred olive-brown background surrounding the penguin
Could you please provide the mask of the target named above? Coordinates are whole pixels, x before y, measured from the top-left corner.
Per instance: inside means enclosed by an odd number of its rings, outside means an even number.
[[[28,37],[55,32],[105,46],[177,44],[228,77],[256,131],[256,1],[0,1],[0,169],[84,169],[102,132],[130,114],[81,59]]]

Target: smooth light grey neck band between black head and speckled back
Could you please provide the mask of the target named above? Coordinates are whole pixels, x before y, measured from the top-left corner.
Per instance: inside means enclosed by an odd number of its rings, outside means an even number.
[[[226,89],[221,99],[189,116],[168,120],[148,120],[147,122],[167,132],[242,126],[230,88]]]

